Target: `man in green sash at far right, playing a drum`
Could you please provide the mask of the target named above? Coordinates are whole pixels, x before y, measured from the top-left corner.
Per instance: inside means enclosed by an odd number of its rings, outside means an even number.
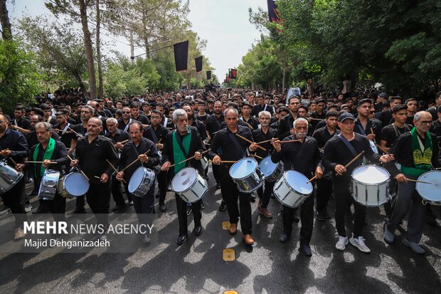
[[[430,112],[415,113],[413,123],[415,127],[410,132],[400,135],[390,149],[401,167],[398,171],[395,164],[388,164],[390,174],[398,182],[398,197],[392,216],[385,226],[384,239],[388,243],[393,243],[395,229],[410,210],[408,231],[401,243],[415,253],[424,254],[425,250],[418,243],[423,234],[426,207],[423,205],[423,199],[419,195],[417,196],[416,183],[408,182],[408,180],[415,181],[421,174],[430,171],[432,167],[440,167],[440,148],[437,137],[429,132],[432,125]],[[431,186],[434,187],[433,193],[439,194],[439,187],[436,187],[435,184]],[[412,209],[410,209],[410,204],[412,204]]]

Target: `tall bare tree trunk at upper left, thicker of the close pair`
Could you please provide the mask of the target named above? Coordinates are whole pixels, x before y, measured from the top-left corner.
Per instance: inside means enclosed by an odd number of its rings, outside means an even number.
[[[87,57],[87,73],[89,74],[90,99],[97,98],[97,80],[95,78],[95,64],[93,62],[92,38],[90,38],[89,27],[87,26],[87,7],[85,0],[78,0],[80,4],[81,26],[84,33],[84,46]]]

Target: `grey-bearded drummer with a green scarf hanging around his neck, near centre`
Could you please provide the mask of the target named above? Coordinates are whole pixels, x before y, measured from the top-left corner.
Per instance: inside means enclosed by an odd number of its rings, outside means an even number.
[[[176,130],[166,135],[162,158],[164,164],[161,166],[163,172],[169,171],[171,174],[177,174],[185,167],[193,167],[201,174],[201,158],[203,150],[201,136],[196,127],[188,125],[187,112],[177,109],[173,112],[173,122]],[[185,159],[195,156],[194,159],[183,162]],[[169,169],[173,165],[173,169]],[[179,236],[176,243],[182,245],[187,238],[188,223],[186,214],[186,202],[181,199],[179,194],[175,193],[176,210],[178,211]],[[200,236],[202,233],[201,225],[201,200],[191,204],[194,219],[194,233]]]

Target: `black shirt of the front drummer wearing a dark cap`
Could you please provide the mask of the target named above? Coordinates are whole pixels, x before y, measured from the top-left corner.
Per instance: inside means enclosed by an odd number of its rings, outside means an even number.
[[[349,141],[349,144],[354,147],[357,154],[364,151],[364,156],[368,160],[378,162],[380,155],[373,153],[368,138],[356,132],[354,132],[354,135],[354,139]],[[334,175],[334,177],[332,177],[333,181],[349,183],[352,171],[361,164],[363,157],[360,157],[356,162],[347,167],[346,172],[341,176],[336,176],[335,167],[337,164],[343,166],[348,164],[354,157],[356,157],[356,155],[352,154],[339,136],[332,137],[326,142],[326,145],[324,145],[323,164],[326,170],[332,171]]]

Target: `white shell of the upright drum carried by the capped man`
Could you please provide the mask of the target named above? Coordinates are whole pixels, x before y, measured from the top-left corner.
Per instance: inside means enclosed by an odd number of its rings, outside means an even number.
[[[383,169],[383,167],[378,167],[376,165],[362,165],[361,167],[369,166]],[[385,204],[388,201],[390,176],[383,182],[366,184],[354,178],[354,172],[361,167],[356,167],[351,174],[352,197],[358,202],[358,204],[367,207],[378,207]],[[383,170],[387,172],[386,169]]]

